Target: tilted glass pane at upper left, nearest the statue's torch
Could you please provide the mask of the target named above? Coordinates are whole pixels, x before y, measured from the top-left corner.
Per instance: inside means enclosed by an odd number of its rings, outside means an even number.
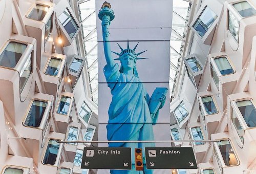
[[[75,35],[76,31],[78,30],[78,26],[73,18],[71,16],[69,10],[66,8],[58,17],[60,23],[65,28],[67,33],[71,38]]]

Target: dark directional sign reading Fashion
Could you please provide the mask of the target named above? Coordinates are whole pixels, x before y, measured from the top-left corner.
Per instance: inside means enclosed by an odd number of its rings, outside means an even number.
[[[148,169],[197,169],[192,147],[145,147]]]

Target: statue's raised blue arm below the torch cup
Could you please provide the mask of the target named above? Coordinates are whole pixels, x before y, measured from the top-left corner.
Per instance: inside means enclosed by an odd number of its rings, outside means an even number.
[[[104,54],[106,59],[106,64],[109,68],[113,68],[115,66],[114,59],[111,56],[111,48],[109,41],[109,31],[107,30],[110,26],[110,17],[104,16],[101,22],[102,26],[102,35],[103,35],[103,46],[104,46]]]

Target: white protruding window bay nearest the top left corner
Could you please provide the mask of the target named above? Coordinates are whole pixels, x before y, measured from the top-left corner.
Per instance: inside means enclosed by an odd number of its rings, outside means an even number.
[[[40,70],[52,53],[54,7],[53,3],[38,1],[23,18],[28,35],[36,39],[36,62]]]

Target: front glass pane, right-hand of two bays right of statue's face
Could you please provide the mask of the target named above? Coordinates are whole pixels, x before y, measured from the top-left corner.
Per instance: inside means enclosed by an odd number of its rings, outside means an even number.
[[[234,70],[230,66],[230,63],[228,62],[226,57],[218,57],[215,58],[214,61],[222,75],[234,73]]]

